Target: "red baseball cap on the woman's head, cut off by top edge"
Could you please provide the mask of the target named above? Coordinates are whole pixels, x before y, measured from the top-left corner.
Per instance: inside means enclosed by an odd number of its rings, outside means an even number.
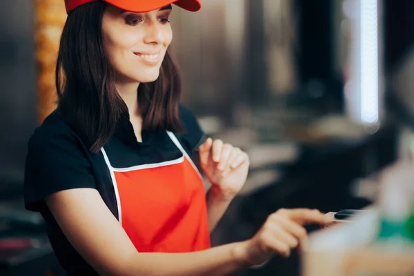
[[[65,0],[66,12],[69,13],[83,4],[95,1],[104,1],[128,12],[149,12],[170,3],[175,3],[175,5],[191,12],[197,12],[201,8],[199,0]]]

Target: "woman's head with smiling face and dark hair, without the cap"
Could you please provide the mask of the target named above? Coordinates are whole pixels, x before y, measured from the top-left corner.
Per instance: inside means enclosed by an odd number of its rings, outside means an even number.
[[[110,139],[121,114],[139,141],[141,129],[181,131],[181,83],[168,52],[171,6],[129,12],[106,5],[92,2],[69,13],[57,61],[58,110],[92,152]]]

